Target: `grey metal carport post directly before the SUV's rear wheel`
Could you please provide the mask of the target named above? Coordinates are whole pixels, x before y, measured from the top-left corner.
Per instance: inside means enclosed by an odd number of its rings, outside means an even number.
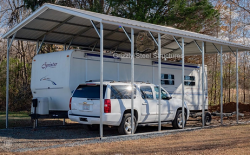
[[[126,33],[126,31],[124,32]],[[130,41],[131,41],[131,87],[132,87],[132,90],[131,90],[131,128],[132,128],[131,134],[134,134],[134,119],[133,119],[134,118],[134,29],[133,28],[131,28]]]

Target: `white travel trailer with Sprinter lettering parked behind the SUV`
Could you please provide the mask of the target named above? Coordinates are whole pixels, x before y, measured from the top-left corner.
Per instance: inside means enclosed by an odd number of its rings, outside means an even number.
[[[141,59],[135,57],[135,81],[158,84],[157,59]],[[104,80],[130,81],[131,64],[129,58],[114,58],[104,54]],[[202,68],[199,65],[185,64],[185,75],[192,77],[185,82],[193,86],[185,86],[185,102],[190,111],[202,109]],[[162,87],[173,98],[181,99],[181,63],[162,63]],[[165,76],[164,76],[165,75]],[[205,67],[206,75],[206,67]],[[75,88],[89,80],[99,80],[99,55],[92,51],[68,50],[48,54],[39,54],[33,58],[31,74],[31,91],[33,98],[47,98],[47,112],[53,117],[67,117],[69,99]],[[168,79],[170,77],[171,79]],[[170,80],[172,85],[164,84]],[[205,80],[205,109],[208,109],[207,80]],[[174,81],[174,82],[173,82]],[[39,101],[38,101],[39,102]],[[39,103],[38,103],[39,104]],[[38,110],[39,111],[39,110]],[[46,110],[42,110],[46,111]],[[34,108],[32,107],[32,113]],[[63,115],[61,115],[63,114]]]

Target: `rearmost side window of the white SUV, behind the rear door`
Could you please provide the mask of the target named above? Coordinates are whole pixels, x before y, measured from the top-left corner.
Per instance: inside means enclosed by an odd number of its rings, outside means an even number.
[[[111,86],[111,99],[131,99],[131,86],[130,85],[113,85]],[[136,89],[134,87],[134,98]]]

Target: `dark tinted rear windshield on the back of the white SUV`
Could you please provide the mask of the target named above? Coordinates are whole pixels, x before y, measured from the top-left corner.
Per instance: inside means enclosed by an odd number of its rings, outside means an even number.
[[[103,86],[103,98],[105,97],[106,87]],[[79,85],[72,97],[100,99],[100,85]]]

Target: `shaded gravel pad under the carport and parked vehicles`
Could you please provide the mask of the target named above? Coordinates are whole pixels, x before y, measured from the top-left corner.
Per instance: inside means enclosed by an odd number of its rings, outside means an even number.
[[[246,124],[249,120],[249,113],[246,113],[244,117],[240,117],[241,123]],[[223,123],[224,125],[234,125],[236,123],[235,116],[224,118]],[[218,125],[220,125],[220,117],[213,117],[211,126]],[[188,128],[187,131],[200,129],[199,127],[201,127],[201,122],[199,121],[189,121],[186,126],[186,128]],[[136,132],[137,136],[131,137],[118,136],[117,128],[105,127],[104,137],[111,138],[105,138],[100,141],[99,131],[89,131],[85,125],[80,124],[38,127],[36,130],[33,130],[32,128],[2,129],[0,130],[0,152],[24,152],[63,146],[82,145],[86,143],[152,138],[181,131],[173,130],[171,125],[163,125],[163,132],[157,133],[155,132],[157,130],[157,126],[138,127]],[[145,134],[147,132],[152,132],[152,134]]]

